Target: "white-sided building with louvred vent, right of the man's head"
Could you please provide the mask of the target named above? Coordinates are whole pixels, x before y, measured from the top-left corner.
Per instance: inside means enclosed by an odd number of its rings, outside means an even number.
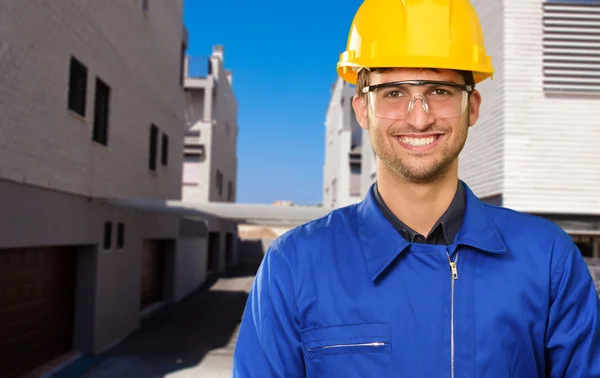
[[[460,176],[483,200],[561,225],[600,258],[600,3],[475,0],[496,69]]]

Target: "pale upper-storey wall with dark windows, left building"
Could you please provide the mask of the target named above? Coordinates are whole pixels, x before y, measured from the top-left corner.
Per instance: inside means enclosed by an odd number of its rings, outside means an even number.
[[[94,197],[180,198],[183,1],[0,3],[0,178]],[[67,108],[69,63],[88,68],[86,115]],[[92,141],[95,80],[111,88],[108,146]],[[148,169],[149,125],[169,165]]]

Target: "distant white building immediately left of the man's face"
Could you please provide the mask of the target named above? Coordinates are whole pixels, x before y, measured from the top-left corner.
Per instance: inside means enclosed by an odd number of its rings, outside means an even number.
[[[325,120],[323,206],[335,208],[362,200],[363,132],[356,121],[353,85],[338,78],[331,87]],[[368,133],[365,132],[365,134]],[[370,145],[369,145],[370,146]]]

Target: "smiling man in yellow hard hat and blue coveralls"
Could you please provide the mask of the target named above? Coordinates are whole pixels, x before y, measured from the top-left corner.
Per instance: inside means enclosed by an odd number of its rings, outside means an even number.
[[[234,376],[600,377],[600,300],[572,239],[458,179],[493,73],[469,0],[365,0],[338,73],[377,183],[271,246]]]

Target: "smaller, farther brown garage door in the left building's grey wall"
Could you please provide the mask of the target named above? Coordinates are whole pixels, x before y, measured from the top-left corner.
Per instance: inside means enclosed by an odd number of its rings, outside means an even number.
[[[144,309],[163,298],[164,247],[156,240],[145,240],[142,251],[142,292],[140,308]]]

